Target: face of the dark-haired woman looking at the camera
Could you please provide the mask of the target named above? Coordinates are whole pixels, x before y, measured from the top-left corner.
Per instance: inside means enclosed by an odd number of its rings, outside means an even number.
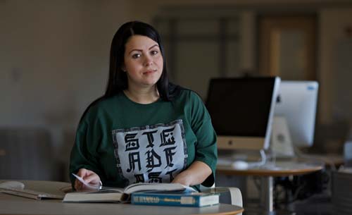
[[[163,72],[163,56],[158,43],[149,37],[134,35],[125,44],[128,87],[151,87]]]

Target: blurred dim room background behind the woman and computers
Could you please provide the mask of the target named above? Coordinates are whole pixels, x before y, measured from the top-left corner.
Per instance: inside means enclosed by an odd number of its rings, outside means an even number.
[[[171,80],[203,99],[215,77],[318,80],[311,150],[342,154],[352,1],[0,0],[0,178],[68,180],[77,123],[103,94],[111,39],[129,20],[161,32]]]

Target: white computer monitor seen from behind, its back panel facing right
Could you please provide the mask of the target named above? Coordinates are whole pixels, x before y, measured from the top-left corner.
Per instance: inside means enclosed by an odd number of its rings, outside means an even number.
[[[286,119],[294,147],[313,145],[318,86],[316,81],[283,80],[280,84],[275,116]]]

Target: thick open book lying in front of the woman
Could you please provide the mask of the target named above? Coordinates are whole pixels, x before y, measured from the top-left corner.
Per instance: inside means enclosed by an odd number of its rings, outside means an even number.
[[[137,183],[126,188],[101,188],[89,192],[68,192],[63,202],[129,202],[130,195],[134,192],[145,191],[178,191],[197,192],[191,187],[179,183]]]

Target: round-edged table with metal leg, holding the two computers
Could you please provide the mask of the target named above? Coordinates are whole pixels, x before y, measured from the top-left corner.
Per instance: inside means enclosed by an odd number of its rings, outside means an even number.
[[[322,170],[322,164],[306,164],[296,161],[277,161],[275,164],[249,168],[245,170],[234,169],[232,166],[218,165],[217,173],[227,176],[261,176],[263,192],[261,202],[265,206],[265,214],[275,214],[273,180],[276,176],[296,176]]]

